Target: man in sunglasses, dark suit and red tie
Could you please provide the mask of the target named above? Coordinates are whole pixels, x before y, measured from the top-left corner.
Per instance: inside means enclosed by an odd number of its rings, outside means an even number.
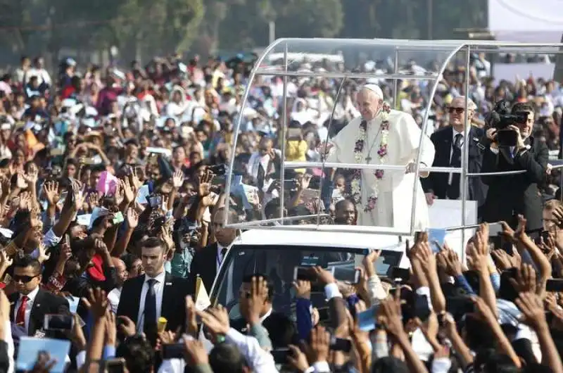
[[[17,292],[8,297],[11,303],[11,322],[25,330],[28,336],[34,336],[37,331],[43,329],[46,314],[70,315],[68,301],[65,298],[39,287],[41,284],[39,260],[25,255],[16,260],[13,266],[13,282]],[[63,338],[49,331],[45,333],[52,337]]]

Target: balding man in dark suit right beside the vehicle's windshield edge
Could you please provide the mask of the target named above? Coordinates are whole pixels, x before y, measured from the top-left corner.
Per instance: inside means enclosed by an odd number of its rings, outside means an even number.
[[[225,213],[226,210],[220,208],[211,219],[211,224],[213,225],[212,232],[217,241],[197,251],[196,255],[194,255],[194,260],[191,261],[188,277],[189,293],[191,294],[195,295],[196,293],[197,277],[201,277],[205,290],[210,293],[217,271],[227,255],[231,244],[236,239],[236,229],[223,227]],[[229,222],[236,221],[238,221],[238,215],[234,211],[229,211]]]

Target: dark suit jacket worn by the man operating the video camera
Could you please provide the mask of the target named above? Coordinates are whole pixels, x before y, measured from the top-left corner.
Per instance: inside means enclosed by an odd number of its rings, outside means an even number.
[[[538,184],[545,182],[545,169],[549,151],[544,142],[529,137],[525,144],[529,150],[514,159],[510,151],[500,148],[495,154],[490,148],[483,153],[481,172],[526,170],[524,174],[481,176],[488,185],[488,195],[483,206],[483,220],[497,222],[505,220],[513,228],[517,226],[517,215],[526,217],[527,231],[543,228],[543,207]]]

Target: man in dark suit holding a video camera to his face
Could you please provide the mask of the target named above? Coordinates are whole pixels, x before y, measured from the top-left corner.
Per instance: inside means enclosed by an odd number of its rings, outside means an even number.
[[[502,172],[526,170],[517,175],[481,176],[483,183],[488,185],[488,194],[483,206],[483,220],[498,222],[504,220],[513,229],[517,227],[517,215],[524,215],[527,220],[526,232],[535,236],[543,228],[542,200],[538,184],[546,177],[549,153],[545,143],[531,136],[534,123],[533,108],[527,103],[515,103],[509,117],[520,116],[527,118],[507,125],[505,129],[499,126],[490,128],[486,132],[491,141],[490,146],[483,153],[481,172]],[[502,116],[502,115],[501,115]],[[500,131],[512,130],[516,132],[514,146],[500,144]],[[510,134],[510,133],[509,133]]]

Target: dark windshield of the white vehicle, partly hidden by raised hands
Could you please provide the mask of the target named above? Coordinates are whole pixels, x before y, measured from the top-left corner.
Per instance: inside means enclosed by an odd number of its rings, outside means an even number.
[[[362,263],[366,253],[360,248],[329,248],[326,246],[289,245],[234,245],[222,265],[211,298],[229,310],[232,319],[241,317],[239,312],[239,289],[243,278],[251,274],[265,274],[274,286],[273,309],[291,315],[291,304],[295,298],[292,289],[293,271],[298,266],[320,265],[353,271]],[[376,272],[388,274],[391,267],[400,263],[402,253],[384,251],[376,263]],[[322,289],[312,291],[312,305],[326,308]]]

